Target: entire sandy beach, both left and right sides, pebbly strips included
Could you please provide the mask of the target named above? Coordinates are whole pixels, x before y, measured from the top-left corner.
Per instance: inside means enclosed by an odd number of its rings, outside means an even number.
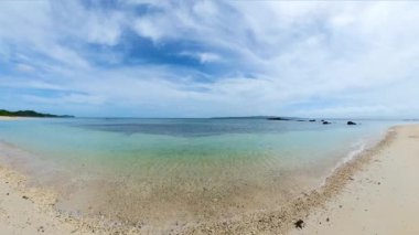
[[[279,212],[187,226],[180,234],[418,234],[419,126],[391,128],[387,137],[343,165],[320,189]],[[0,168],[0,231],[4,234],[109,234],[104,223],[64,216],[57,197],[29,188],[25,178]],[[301,228],[296,228],[299,220]],[[123,234],[137,234],[123,229]]]

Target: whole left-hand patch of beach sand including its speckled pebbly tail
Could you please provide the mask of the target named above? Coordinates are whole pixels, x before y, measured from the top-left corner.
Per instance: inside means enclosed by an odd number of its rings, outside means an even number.
[[[103,218],[76,217],[55,207],[57,194],[30,186],[28,178],[0,164],[0,231],[6,234],[139,234]]]

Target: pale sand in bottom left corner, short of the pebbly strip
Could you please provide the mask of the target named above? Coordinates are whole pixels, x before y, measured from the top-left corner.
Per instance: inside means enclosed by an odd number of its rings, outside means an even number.
[[[58,218],[53,193],[26,188],[25,178],[7,168],[0,167],[0,234],[79,234]]]

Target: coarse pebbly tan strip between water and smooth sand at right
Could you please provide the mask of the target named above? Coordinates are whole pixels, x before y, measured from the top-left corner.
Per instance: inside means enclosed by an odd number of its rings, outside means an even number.
[[[397,135],[397,128],[398,126],[388,128],[380,141],[336,168],[330,177],[325,178],[324,184],[302,193],[301,196],[281,206],[279,211],[260,211],[211,225],[201,224],[190,228],[186,234],[287,234],[296,227],[294,223],[308,217],[312,211],[322,207],[337,195],[355,173],[368,165],[373,156],[389,146]]]

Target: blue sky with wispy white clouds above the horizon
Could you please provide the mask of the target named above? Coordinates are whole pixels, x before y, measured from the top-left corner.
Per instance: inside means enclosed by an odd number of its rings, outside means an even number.
[[[419,117],[419,2],[0,1],[0,109]]]

